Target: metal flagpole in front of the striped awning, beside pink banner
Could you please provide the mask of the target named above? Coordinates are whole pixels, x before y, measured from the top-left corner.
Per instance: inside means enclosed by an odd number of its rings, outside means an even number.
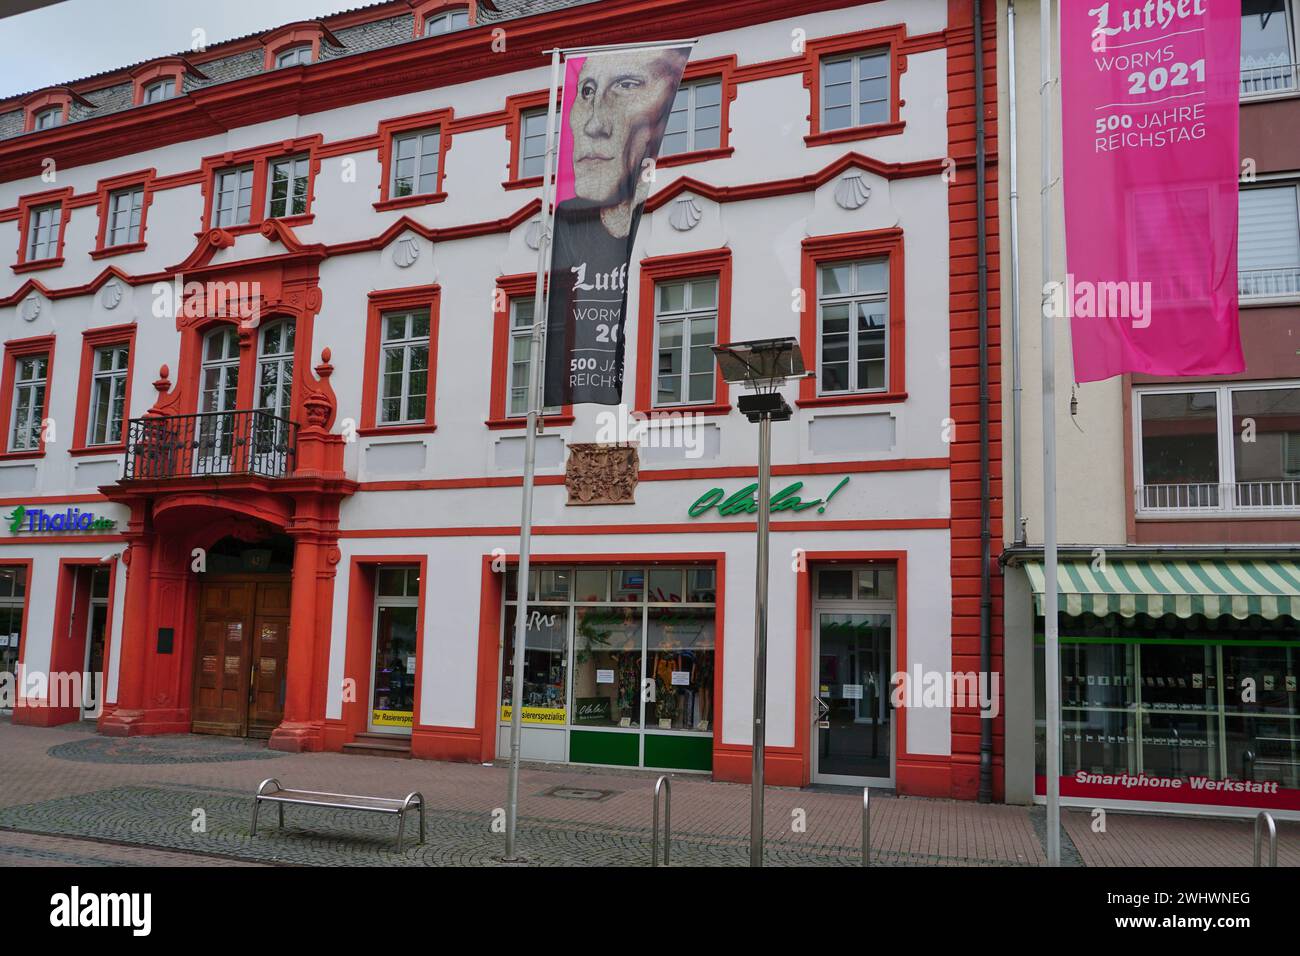
[[[1052,0],[1039,8],[1043,183],[1043,657],[1046,687],[1048,866],[1061,865],[1061,657],[1057,641],[1056,321],[1052,316]],[[1069,313],[1069,310],[1066,310]]]

